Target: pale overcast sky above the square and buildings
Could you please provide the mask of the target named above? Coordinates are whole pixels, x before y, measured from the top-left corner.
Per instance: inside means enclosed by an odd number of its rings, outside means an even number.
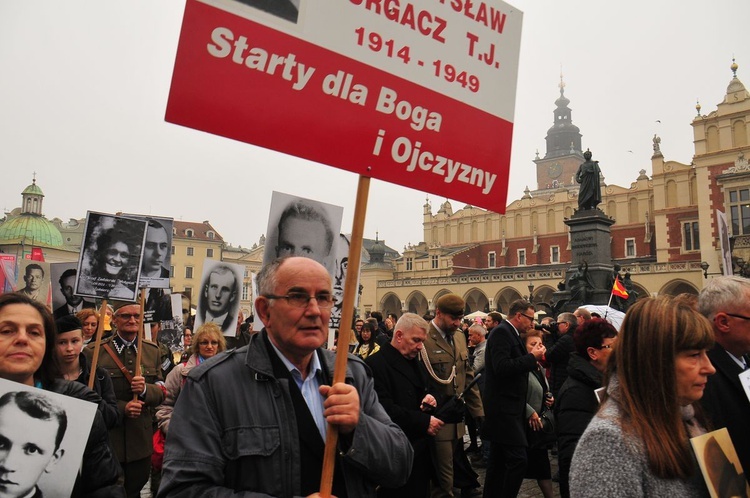
[[[561,67],[584,149],[625,187],[651,173],[654,133],[665,159],[690,163],[696,100],[703,114],[716,109],[733,56],[750,85],[750,1],[511,4],[524,24],[506,204],[535,187]],[[350,232],[355,174],[164,121],[183,10],[180,0],[0,0],[0,208],[19,206],[36,172],[50,219],[210,220],[247,247],[277,190],[344,206]],[[421,241],[426,195],[373,180],[365,237],[379,231],[398,251]],[[433,212],[445,200],[429,198]]]

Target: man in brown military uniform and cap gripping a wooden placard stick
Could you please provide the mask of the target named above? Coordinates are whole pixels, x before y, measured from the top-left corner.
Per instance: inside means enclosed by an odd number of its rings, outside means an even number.
[[[153,428],[151,410],[164,399],[159,347],[150,341],[138,344],[141,307],[135,303],[115,306],[112,322],[116,334],[102,341],[98,365],[109,372],[123,415],[122,425],[109,431],[109,440],[125,473],[128,498],[140,496],[151,469]],[[135,375],[136,355],[141,351],[141,375]],[[86,347],[91,359],[94,344]]]

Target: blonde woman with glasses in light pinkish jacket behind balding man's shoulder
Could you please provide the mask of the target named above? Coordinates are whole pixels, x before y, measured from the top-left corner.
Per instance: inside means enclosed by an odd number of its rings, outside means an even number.
[[[164,387],[167,389],[167,395],[164,402],[156,410],[156,422],[159,429],[166,435],[169,430],[169,420],[172,418],[172,410],[180,395],[182,385],[185,383],[190,370],[203,361],[216,356],[227,348],[227,343],[221,333],[221,327],[213,322],[204,323],[192,336],[192,345],[190,346],[190,358],[187,363],[181,363],[167,375]]]

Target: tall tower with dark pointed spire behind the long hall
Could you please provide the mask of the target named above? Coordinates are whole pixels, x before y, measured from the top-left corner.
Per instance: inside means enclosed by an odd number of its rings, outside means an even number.
[[[570,186],[571,179],[584,161],[581,151],[581,132],[573,124],[570,100],[565,97],[565,82],[560,75],[560,98],[555,101],[555,122],[547,131],[547,152],[543,158],[537,152],[536,180],[538,190]],[[573,185],[577,185],[572,180]]]

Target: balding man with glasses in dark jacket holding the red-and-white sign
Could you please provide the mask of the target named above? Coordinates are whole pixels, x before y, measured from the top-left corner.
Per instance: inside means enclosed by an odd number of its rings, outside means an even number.
[[[334,301],[328,271],[283,258],[263,267],[258,291],[263,330],[191,371],[182,388],[158,496],[314,495],[331,427],[334,496],[375,497],[377,485],[404,484],[413,450],[367,367],[350,356],[346,382],[331,385],[335,356],[322,348]]]

